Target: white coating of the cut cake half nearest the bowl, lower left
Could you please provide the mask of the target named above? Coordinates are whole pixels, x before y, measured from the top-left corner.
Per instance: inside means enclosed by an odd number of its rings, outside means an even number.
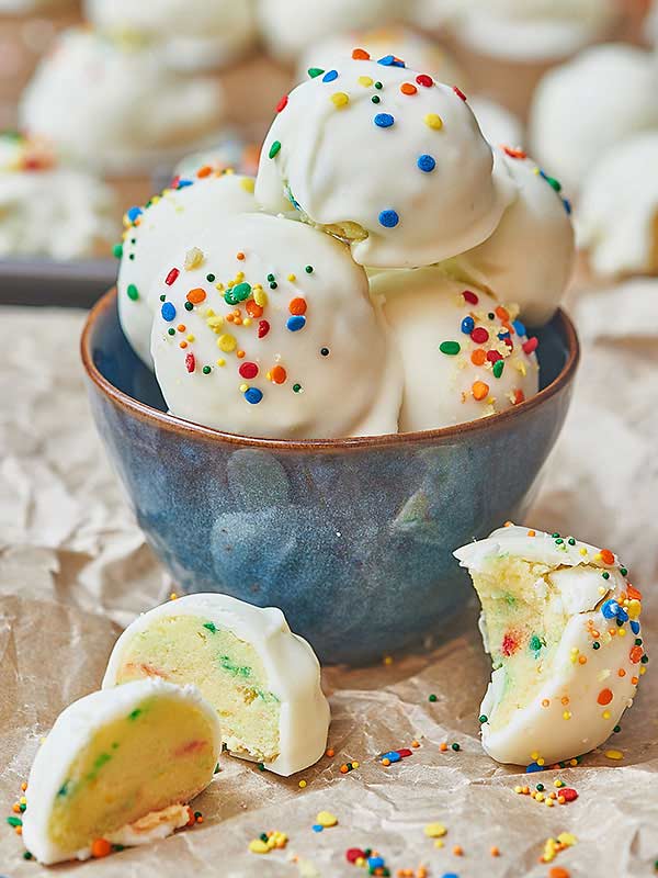
[[[329,703],[320,686],[320,665],[310,645],[291,631],[276,607],[254,607],[219,594],[186,595],[156,607],[139,616],[117,640],[103,688],[115,686],[122,655],[131,640],[155,620],[174,616],[205,618],[217,629],[228,630],[249,643],[258,653],[269,690],[281,702],[280,755],[265,763],[265,768],[288,777],[314,765],[327,746],[330,721]],[[226,743],[230,751],[230,741]]]

